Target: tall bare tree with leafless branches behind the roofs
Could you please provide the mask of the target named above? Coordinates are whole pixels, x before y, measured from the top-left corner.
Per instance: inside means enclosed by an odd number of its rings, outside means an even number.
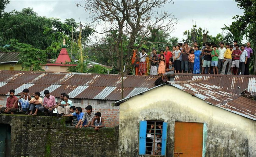
[[[102,26],[102,32],[106,33],[118,30],[115,38],[114,51],[120,58],[119,46],[123,35],[128,37],[128,56],[125,62],[130,61],[132,49],[138,49],[149,38],[151,29],[158,28],[165,32],[174,30],[176,20],[167,12],[158,11],[164,5],[173,3],[173,0],[84,0],[85,4],[77,3],[77,6],[90,12],[91,26]],[[136,40],[140,38],[140,40]],[[121,59],[121,58],[120,58]],[[121,70],[121,62],[118,61],[117,69]],[[128,66],[129,68],[129,66]]]

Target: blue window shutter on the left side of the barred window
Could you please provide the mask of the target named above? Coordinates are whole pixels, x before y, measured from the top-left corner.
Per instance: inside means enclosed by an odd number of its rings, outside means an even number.
[[[139,155],[146,154],[147,121],[140,121]]]

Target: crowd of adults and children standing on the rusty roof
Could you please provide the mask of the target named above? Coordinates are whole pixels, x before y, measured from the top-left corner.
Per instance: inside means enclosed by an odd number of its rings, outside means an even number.
[[[201,48],[197,42],[193,47],[184,42],[170,49],[168,45],[159,52],[152,48],[150,54],[145,48],[141,52],[133,50],[135,75],[161,75],[163,80],[168,80],[167,75],[182,73],[249,75],[253,55],[250,42],[239,45],[236,40],[233,44],[205,42]]]

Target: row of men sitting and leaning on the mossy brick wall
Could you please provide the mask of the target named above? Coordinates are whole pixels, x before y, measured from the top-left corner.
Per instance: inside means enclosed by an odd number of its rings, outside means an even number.
[[[25,115],[36,116],[38,111],[44,112],[45,116],[52,116],[53,111],[57,109],[57,117],[72,117],[72,125],[76,128],[93,127],[95,131],[105,127],[105,120],[101,118],[101,112],[92,112],[92,106],[87,105],[82,112],[82,108],[73,106],[69,95],[61,93],[60,102],[56,102],[55,97],[50,95],[48,90],[44,91],[44,99],[40,97],[40,92],[35,92],[34,98],[29,95],[29,90],[24,89],[23,94],[17,98],[15,90],[9,91],[9,97],[6,100],[6,107],[0,108],[0,113],[15,114],[18,105],[22,108],[19,112],[25,112]],[[33,113],[34,112],[34,113]]]

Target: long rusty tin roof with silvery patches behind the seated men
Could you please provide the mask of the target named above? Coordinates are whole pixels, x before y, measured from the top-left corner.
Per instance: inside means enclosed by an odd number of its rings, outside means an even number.
[[[155,87],[159,76],[124,75],[123,97]],[[65,92],[70,98],[77,99],[121,99],[121,75],[84,74],[65,72],[25,72],[0,71],[0,95],[8,95],[10,89],[15,89],[16,95],[21,95],[28,88],[30,95],[49,90],[51,95],[59,97]]]

